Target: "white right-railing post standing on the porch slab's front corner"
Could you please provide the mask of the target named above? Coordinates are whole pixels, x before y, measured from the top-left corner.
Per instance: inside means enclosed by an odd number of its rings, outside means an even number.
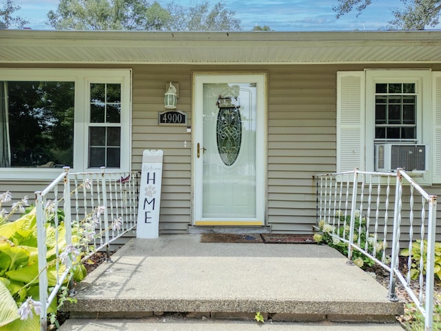
[[[395,205],[393,207],[393,234],[392,234],[392,254],[391,254],[391,273],[389,277],[389,293],[387,297],[390,301],[398,301],[395,292],[395,268],[398,268],[398,251],[400,250],[400,223],[401,223],[401,174],[400,169],[397,170],[396,188],[395,188]]]

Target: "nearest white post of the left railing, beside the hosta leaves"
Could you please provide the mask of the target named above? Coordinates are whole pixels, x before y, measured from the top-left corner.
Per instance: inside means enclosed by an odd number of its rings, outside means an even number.
[[[35,192],[35,211],[37,217],[37,247],[39,256],[39,296],[41,302],[40,330],[48,328],[48,272],[46,269],[46,217],[43,205],[42,192]]]

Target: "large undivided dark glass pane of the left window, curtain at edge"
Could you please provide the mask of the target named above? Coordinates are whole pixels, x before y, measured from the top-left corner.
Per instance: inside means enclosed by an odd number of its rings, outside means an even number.
[[[73,81],[0,81],[1,168],[73,166]]]

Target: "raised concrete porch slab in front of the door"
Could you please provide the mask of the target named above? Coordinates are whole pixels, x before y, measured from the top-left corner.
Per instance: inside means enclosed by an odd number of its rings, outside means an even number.
[[[68,306],[73,320],[62,331],[138,330],[138,323],[139,330],[150,330],[147,325],[154,320],[140,319],[161,319],[163,312],[198,319],[197,328],[182,330],[215,330],[213,320],[252,320],[256,312],[274,323],[389,322],[378,330],[402,330],[393,323],[402,303],[389,301],[382,285],[347,265],[346,258],[327,245],[201,243],[200,234],[131,239],[112,256],[112,263],[100,265],[76,290],[78,303]],[[203,317],[211,327],[201,324]],[[78,320],[96,318],[121,320]],[[93,326],[87,328],[87,323]],[[100,329],[99,323],[132,326]],[[305,330],[345,330],[342,325],[333,328]],[[219,330],[229,329],[224,325]]]

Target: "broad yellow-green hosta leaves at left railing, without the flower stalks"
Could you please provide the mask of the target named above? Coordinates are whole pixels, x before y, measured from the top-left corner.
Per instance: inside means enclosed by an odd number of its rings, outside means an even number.
[[[57,283],[57,276],[61,276],[65,271],[65,265],[59,263],[57,271],[57,246],[61,252],[65,248],[65,228],[63,212],[58,211],[59,225],[54,228],[54,214],[48,212],[46,223],[47,232],[47,254],[46,261],[48,272],[48,285],[54,286]],[[55,237],[58,230],[59,237]],[[85,268],[79,263],[79,257],[75,257],[75,267],[72,274],[81,280],[85,277]],[[58,272],[58,275],[57,275]],[[65,280],[65,283],[68,279]],[[65,288],[65,287],[64,287]],[[65,297],[68,293],[65,292]],[[61,293],[61,303],[68,300]],[[0,224],[0,331],[7,330],[39,330],[39,316],[33,314],[28,319],[20,319],[18,308],[28,298],[34,301],[39,300],[39,266],[37,249],[37,217],[36,209],[28,209],[19,219],[13,222],[3,222]],[[50,306],[49,312],[54,314],[57,302],[54,301]]]

